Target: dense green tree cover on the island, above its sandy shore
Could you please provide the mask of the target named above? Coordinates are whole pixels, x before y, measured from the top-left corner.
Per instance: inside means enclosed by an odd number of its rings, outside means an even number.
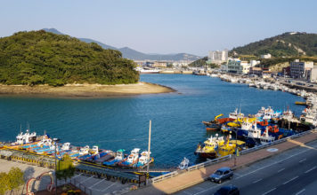
[[[61,86],[138,80],[132,60],[122,58],[120,51],[104,50],[97,43],[44,30],[0,38],[0,83]]]

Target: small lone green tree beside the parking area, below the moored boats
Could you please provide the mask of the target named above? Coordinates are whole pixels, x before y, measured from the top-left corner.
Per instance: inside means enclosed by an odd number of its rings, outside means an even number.
[[[68,178],[71,178],[75,174],[75,168],[73,164],[73,160],[69,157],[69,155],[64,155],[62,160],[59,161],[57,165],[56,177],[58,179],[64,179],[65,183]]]

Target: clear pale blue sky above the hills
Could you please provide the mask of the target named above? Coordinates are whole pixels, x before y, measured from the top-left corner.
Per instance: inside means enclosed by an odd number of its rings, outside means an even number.
[[[54,27],[145,53],[232,49],[283,32],[317,33],[317,1],[2,0],[0,36]]]

